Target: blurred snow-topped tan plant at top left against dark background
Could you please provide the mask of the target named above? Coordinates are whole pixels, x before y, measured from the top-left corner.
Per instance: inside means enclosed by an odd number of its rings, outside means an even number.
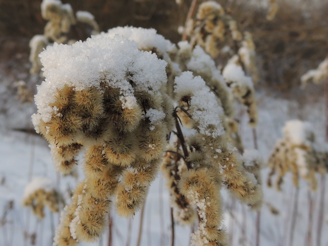
[[[42,65],[39,54],[48,45],[52,45],[53,42],[72,44],[99,32],[98,24],[90,12],[77,11],[75,17],[72,6],[68,3],[63,4],[60,0],[43,0],[41,15],[48,23],[44,28],[44,34],[35,35],[30,41],[31,74],[40,71]],[[84,26],[81,28],[81,25]],[[72,29],[74,29],[75,35],[73,35]]]

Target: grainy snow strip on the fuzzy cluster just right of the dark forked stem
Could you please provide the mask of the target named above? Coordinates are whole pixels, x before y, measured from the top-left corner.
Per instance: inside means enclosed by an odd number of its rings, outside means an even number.
[[[213,92],[206,86],[200,77],[193,77],[190,71],[183,72],[175,78],[174,92],[178,95],[190,95],[190,114],[198,125],[199,133],[214,138],[224,134],[221,123],[223,109],[217,103]]]

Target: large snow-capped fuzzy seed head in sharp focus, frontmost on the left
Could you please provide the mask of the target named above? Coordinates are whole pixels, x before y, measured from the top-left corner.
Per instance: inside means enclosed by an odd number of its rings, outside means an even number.
[[[93,241],[113,196],[118,212],[131,215],[154,180],[172,117],[163,89],[166,62],[122,36],[101,35],[72,46],[55,44],[41,61],[46,81],[35,96],[36,130],[51,143],[65,173],[81,147],[86,150],[84,186],[62,219],[56,243]]]

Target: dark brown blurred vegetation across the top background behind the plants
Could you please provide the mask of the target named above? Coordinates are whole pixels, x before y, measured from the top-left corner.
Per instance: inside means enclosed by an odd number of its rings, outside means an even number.
[[[28,42],[43,33],[46,21],[40,12],[41,0],[0,0],[0,62],[27,58]],[[90,11],[106,31],[116,26],[155,28],[173,42],[180,40],[177,27],[184,25],[191,0],[63,0],[74,11]],[[198,0],[198,4],[203,0]],[[299,77],[316,68],[328,53],[328,2],[319,8],[307,1],[306,12],[292,1],[280,0],[273,21],[266,9],[247,1],[218,1],[227,8],[244,31],[251,31],[256,44],[261,84],[284,90],[299,84]],[[260,1],[259,1],[260,2]],[[16,61],[21,62],[21,61]],[[25,60],[27,62],[27,60]],[[14,63],[12,66],[14,66]],[[8,68],[8,67],[7,67]]]

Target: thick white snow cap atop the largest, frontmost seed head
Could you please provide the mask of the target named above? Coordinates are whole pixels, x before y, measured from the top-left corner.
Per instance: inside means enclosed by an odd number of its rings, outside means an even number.
[[[136,99],[128,79],[135,83],[135,90],[151,95],[158,95],[167,81],[165,61],[151,52],[139,51],[134,41],[119,35],[93,36],[72,46],[55,43],[39,56],[46,79],[35,95],[38,113],[32,115],[32,121],[36,131],[41,119],[48,122],[55,113],[49,104],[55,102],[57,90],[65,85],[80,91],[100,89],[100,82],[106,82],[120,89],[124,107],[133,108]]]

